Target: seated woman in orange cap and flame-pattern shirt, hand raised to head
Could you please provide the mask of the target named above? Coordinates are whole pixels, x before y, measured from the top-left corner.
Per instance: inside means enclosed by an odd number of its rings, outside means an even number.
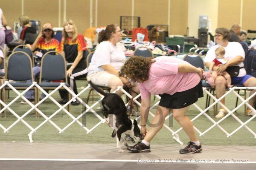
[[[37,65],[33,68],[34,78],[38,77],[41,70],[41,57],[48,51],[60,51],[60,45],[58,40],[54,39],[54,32],[52,31],[52,24],[44,24],[42,31],[38,34],[35,42],[32,46],[29,46],[31,51],[35,51],[35,57],[37,57]],[[28,80],[27,82],[31,82]],[[25,97],[32,103],[35,102],[35,91],[26,92]],[[43,99],[45,94],[41,95],[40,99]],[[21,104],[27,104],[25,101],[21,101]]]

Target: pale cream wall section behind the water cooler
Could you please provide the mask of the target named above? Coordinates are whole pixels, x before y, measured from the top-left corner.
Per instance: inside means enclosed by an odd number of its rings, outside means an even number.
[[[218,23],[218,0],[189,0],[189,36],[198,37],[199,15],[208,15],[208,19],[211,20],[212,34],[214,35]]]

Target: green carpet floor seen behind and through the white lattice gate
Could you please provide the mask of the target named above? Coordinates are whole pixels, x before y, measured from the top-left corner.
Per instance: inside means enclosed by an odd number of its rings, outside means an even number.
[[[86,86],[87,82],[78,81],[78,87],[81,87],[79,88],[79,90]],[[10,99],[8,99],[8,102],[10,102],[16,96],[16,94],[10,92]],[[85,98],[86,96],[87,94],[84,93],[81,97]],[[55,93],[53,97],[57,101],[60,99],[58,92]],[[155,101],[153,99],[154,98],[151,97],[151,104],[157,102],[157,99]],[[198,100],[196,104],[200,108],[204,109],[205,100],[206,97],[201,98]],[[227,108],[229,108],[230,110],[235,108],[235,100],[236,97],[234,94],[228,95],[226,97]],[[30,106],[21,105],[20,101],[21,99],[19,99],[17,102],[11,105],[10,108],[12,108],[19,116],[22,116],[26,111],[29,110]],[[89,105],[92,105],[92,103],[93,102],[90,102]],[[96,110],[97,107],[99,107],[99,105],[96,106],[94,110]],[[40,110],[47,116],[50,116],[52,113],[58,110],[58,107],[49,99],[47,99],[46,102],[40,105]],[[79,116],[82,113],[82,111],[83,108],[81,104],[79,106],[72,106],[71,113],[73,114],[73,116]],[[155,110],[152,110],[152,112],[154,113]],[[12,123],[14,123],[17,120],[17,118],[14,115],[12,115],[12,113],[10,113],[9,111],[6,111],[6,113],[8,117],[1,117],[0,124],[7,128],[10,125],[12,125]],[[192,119],[193,117],[198,115],[198,113],[200,112],[194,106],[191,106],[189,108],[189,111],[187,112],[187,116],[189,116],[189,118]],[[100,112],[99,115],[102,116]],[[215,119],[213,116],[212,109],[209,111],[209,116]],[[238,113],[236,113],[236,116],[238,116],[239,119],[241,119],[241,121],[243,122],[250,118],[248,116],[244,116],[244,106],[239,108]],[[135,119],[135,117],[133,117],[133,119]],[[149,116],[149,120],[151,119],[152,117]],[[41,122],[43,122],[45,119],[42,116],[39,118],[35,118],[35,113],[32,111],[32,113],[29,113],[29,115],[27,115],[24,118],[24,120],[27,123],[29,123],[29,125],[31,125],[33,128],[35,128],[38,125],[40,125]],[[59,112],[51,120],[55,122],[55,124],[58,125],[60,128],[64,128],[67,124],[69,124],[72,121],[72,119],[63,111]],[[217,119],[215,120],[217,121]],[[96,116],[94,116],[92,113],[86,113],[86,115],[83,118],[79,119],[79,121],[90,129],[99,122],[99,119],[96,118]],[[212,122],[210,122],[204,115],[195,120],[193,123],[195,127],[197,127],[201,132],[204,132],[204,130],[207,130],[207,128],[212,126]],[[180,125],[178,125],[177,122],[174,119],[172,119],[172,117],[166,121],[166,125],[171,127],[172,130],[177,130],[180,128]],[[221,122],[220,125],[225,130],[227,130],[228,133],[231,133],[233,130],[240,126],[239,122],[237,122],[232,116],[229,116],[227,119]],[[256,132],[256,119],[253,119],[251,122],[249,122],[247,126]],[[22,122],[18,122],[18,124],[12,127],[8,133],[3,133],[3,130],[0,128],[0,142],[29,142],[27,135],[30,131],[31,130],[29,130],[29,128],[26,127]],[[108,127],[106,124],[99,125],[98,127],[96,127],[95,130],[92,131],[92,133],[87,134],[86,131],[82,127],[80,127],[76,122],[69,128],[67,128],[67,130],[65,130],[64,133],[58,133],[58,130],[55,127],[53,127],[49,122],[47,122],[40,129],[38,129],[36,133],[33,134],[33,140],[34,142],[49,143],[115,143],[116,139],[111,138],[111,134],[112,129]],[[183,130],[181,130],[178,134],[182,142],[189,142],[189,139]],[[201,143],[207,145],[256,144],[256,139],[254,138],[254,136],[244,127],[242,127],[237,133],[235,133],[233,136],[229,138],[227,138],[226,134],[224,134],[218,127],[214,127],[212,130],[210,130],[208,133],[201,137],[199,137],[198,133],[196,134]],[[172,139],[172,133],[165,127],[163,127],[162,130],[160,130],[160,132],[157,133],[157,135],[154,137],[151,143],[174,144],[175,141]]]

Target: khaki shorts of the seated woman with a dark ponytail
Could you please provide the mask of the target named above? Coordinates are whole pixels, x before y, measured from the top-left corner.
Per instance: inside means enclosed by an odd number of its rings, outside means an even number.
[[[95,85],[108,87],[108,81],[115,75],[107,71],[99,71],[87,76],[87,80],[93,82]]]

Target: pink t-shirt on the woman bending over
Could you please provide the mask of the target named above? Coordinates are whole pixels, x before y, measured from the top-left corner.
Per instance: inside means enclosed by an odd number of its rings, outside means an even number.
[[[140,83],[141,98],[150,94],[175,94],[189,90],[201,81],[198,73],[178,73],[178,64],[189,64],[174,57],[157,57],[149,69],[149,79]]]

